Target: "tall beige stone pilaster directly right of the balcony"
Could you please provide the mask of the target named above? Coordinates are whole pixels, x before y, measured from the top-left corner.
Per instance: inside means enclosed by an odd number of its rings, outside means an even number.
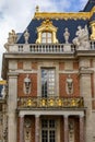
[[[92,142],[92,82],[91,82],[92,71],[88,69],[81,69],[80,71],[80,95],[84,98],[84,107],[86,107],[85,113],[85,141]]]

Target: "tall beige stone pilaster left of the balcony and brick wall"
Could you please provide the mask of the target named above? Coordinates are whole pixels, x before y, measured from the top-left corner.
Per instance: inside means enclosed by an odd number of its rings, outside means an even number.
[[[8,142],[16,142],[17,73],[9,73]]]

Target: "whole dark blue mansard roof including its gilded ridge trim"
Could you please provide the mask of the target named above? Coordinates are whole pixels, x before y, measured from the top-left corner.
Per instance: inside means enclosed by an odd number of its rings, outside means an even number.
[[[52,25],[57,27],[57,39],[59,44],[64,43],[63,33],[64,28],[68,27],[70,33],[69,43],[72,43],[72,39],[75,37],[78,26],[84,28],[87,25],[90,29],[90,22],[95,19],[95,0],[88,0],[84,10],[78,13],[49,13],[49,12],[39,12],[36,11],[34,19],[31,21],[26,29],[29,33],[28,44],[35,44],[38,37],[37,27],[41,25],[45,20],[52,22]],[[25,29],[25,31],[26,31]],[[24,33],[17,39],[17,44],[24,44]]]

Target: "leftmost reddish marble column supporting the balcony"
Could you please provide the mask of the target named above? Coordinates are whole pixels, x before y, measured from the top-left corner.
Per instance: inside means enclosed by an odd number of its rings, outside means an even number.
[[[20,142],[24,142],[24,116],[20,116]]]

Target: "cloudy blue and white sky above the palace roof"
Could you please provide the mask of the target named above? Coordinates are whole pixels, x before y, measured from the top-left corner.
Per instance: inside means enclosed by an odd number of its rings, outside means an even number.
[[[78,12],[86,2],[87,0],[0,0],[0,71],[8,33],[11,29],[22,33],[31,22],[36,5],[43,12]]]

